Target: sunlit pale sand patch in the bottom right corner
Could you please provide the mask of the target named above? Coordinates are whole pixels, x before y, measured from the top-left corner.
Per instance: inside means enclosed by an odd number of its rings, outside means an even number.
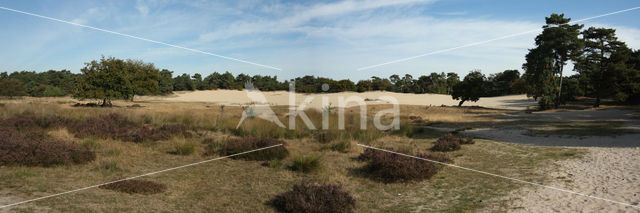
[[[640,211],[640,148],[586,148],[584,158],[556,162],[545,185],[636,205],[629,207],[558,190],[530,186],[516,191],[514,212],[638,212]]]

